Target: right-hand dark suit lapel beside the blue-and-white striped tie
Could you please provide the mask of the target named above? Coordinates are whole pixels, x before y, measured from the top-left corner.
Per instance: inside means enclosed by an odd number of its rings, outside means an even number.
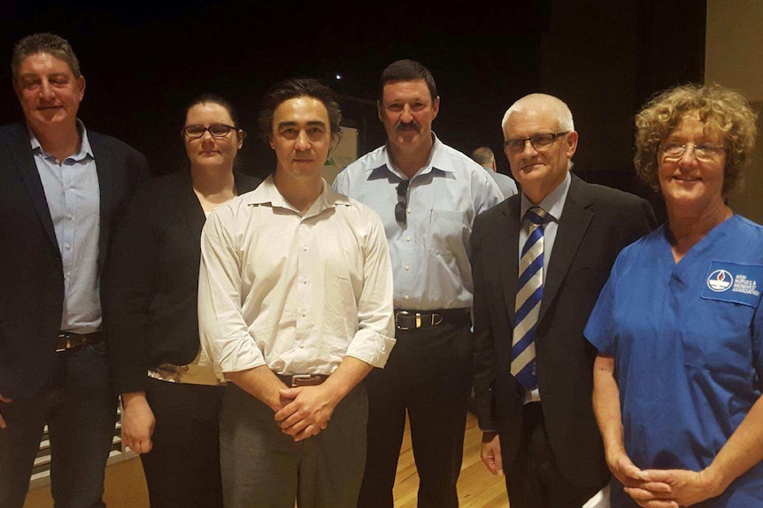
[[[590,221],[593,219],[593,213],[588,209],[590,198],[586,193],[585,182],[574,175],[571,176],[572,181],[567,193],[564,211],[559,220],[556,239],[554,239],[549,272],[543,283],[543,300],[541,301],[538,322],[543,320],[551,302],[556,298],[559,287],[564,281],[582,239],[588,231]]]

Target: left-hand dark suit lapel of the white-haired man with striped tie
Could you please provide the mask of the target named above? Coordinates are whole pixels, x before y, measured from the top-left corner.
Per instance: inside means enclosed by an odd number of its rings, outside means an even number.
[[[498,262],[502,287],[505,288],[504,298],[506,314],[509,322],[514,326],[514,306],[516,300],[517,277],[519,271],[519,246],[520,246],[520,196],[505,201],[502,210],[504,218],[505,235],[499,235],[496,239],[498,246]]]

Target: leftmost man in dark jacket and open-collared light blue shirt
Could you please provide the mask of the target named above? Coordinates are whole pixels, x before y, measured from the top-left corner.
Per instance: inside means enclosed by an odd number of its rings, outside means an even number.
[[[66,40],[25,37],[12,73],[26,125],[0,127],[0,506],[23,505],[46,423],[56,506],[104,506],[117,398],[103,267],[148,164],[77,119],[85,80]]]

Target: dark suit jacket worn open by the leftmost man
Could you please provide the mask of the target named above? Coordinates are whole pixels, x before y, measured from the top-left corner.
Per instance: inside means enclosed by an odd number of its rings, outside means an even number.
[[[100,188],[103,303],[113,226],[149,169],[122,141],[92,131],[88,138]],[[29,143],[26,125],[0,127],[0,393],[10,398],[50,388],[64,305],[61,254]]]

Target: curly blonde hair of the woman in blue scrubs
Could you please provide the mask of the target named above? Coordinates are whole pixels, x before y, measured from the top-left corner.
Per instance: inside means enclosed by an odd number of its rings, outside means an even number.
[[[742,170],[755,147],[758,114],[738,92],[720,85],[682,85],[652,96],[636,115],[636,174],[659,192],[659,146],[690,113],[718,129],[726,148],[723,168],[724,197],[743,184]]]

